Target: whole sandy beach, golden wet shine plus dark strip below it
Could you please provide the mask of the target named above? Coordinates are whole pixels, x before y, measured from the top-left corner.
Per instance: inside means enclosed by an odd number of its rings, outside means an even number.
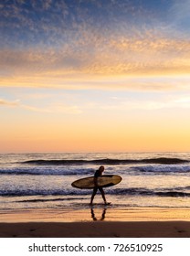
[[[1,238],[189,238],[188,208],[0,211]]]

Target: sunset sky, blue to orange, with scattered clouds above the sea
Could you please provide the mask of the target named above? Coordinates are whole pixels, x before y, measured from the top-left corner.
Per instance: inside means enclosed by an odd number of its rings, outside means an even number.
[[[0,153],[190,152],[190,0],[0,11]]]

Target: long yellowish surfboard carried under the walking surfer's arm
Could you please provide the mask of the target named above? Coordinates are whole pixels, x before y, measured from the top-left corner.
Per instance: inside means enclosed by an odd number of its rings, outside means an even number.
[[[91,189],[94,187],[111,187],[121,182],[121,176],[106,175],[106,176],[89,176],[80,178],[74,181],[71,186],[80,189]]]

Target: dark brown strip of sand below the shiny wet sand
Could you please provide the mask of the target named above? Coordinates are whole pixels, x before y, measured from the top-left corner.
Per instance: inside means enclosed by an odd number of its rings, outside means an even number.
[[[0,223],[4,238],[189,238],[190,222],[21,222]]]

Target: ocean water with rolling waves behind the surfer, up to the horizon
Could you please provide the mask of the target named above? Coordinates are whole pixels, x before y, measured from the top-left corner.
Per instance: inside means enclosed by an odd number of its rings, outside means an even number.
[[[100,165],[122,177],[104,188],[111,208],[190,208],[190,153],[37,153],[0,155],[0,209],[90,208],[92,191],[71,183]]]

